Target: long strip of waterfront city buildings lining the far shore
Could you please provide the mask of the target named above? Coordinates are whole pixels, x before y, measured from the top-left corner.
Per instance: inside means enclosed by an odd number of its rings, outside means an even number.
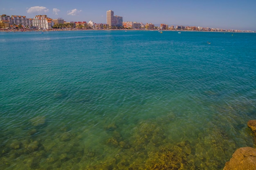
[[[242,31],[232,29],[216,29],[200,26],[182,26],[173,25],[168,27],[167,24],[160,24],[155,26],[152,23],[137,23],[137,22],[123,22],[123,17],[114,15],[114,11],[107,12],[107,23],[96,24],[92,21],[88,23],[83,22],[65,22],[62,18],[51,19],[47,15],[36,15],[34,18],[27,18],[21,15],[0,15],[0,29],[146,29],[146,30],[187,30],[187,31],[227,31],[227,32],[255,32],[255,31]]]

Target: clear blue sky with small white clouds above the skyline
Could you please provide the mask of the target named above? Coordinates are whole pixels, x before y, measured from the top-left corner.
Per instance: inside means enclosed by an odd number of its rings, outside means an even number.
[[[256,31],[256,0],[0,0],[0,15],[106,23],[124,21]]]

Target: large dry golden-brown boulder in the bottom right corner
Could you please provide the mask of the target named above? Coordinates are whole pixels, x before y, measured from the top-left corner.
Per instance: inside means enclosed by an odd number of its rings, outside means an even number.
[[[223,170],[256,170],[256,149],[251,147],[237,149]]]

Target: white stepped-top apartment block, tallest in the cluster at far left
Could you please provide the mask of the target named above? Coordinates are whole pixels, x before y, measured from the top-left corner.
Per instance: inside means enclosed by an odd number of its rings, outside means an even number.
[[[36,26],[37,29],[52,29],[53,25],[54,22],[47,15],[36,15],[33,20],[33,26]]]

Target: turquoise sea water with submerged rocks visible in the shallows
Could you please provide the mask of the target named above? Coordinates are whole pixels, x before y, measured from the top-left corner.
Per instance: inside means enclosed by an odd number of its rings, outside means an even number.
[[[0,32],[0,169],[223,169],[255,147],[255,44],[255,33]]]

